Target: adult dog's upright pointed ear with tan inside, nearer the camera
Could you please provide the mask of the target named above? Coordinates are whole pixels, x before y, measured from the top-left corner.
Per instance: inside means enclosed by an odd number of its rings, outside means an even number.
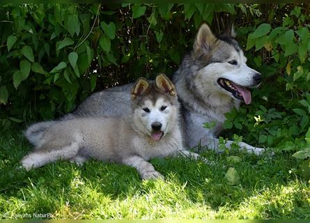
[[[212,44],[215,43],[215,40],[217,40],[217,38],[212,33],[210,27],[206,23],[202,24],[194,42],[194,51],[197,52],[203,50],[209,52]]]

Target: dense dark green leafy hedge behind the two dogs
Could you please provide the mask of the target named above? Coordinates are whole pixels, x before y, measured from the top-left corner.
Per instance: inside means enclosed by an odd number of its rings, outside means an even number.
[[[93,91],[172,75],[201,22],[234,22],[263,74],[253,102],[224,127],[258,146],[310,150],[309,4],[24,4],[0,6],[0,125],[55,118]],[[233,130],[230,130],[233,128]]]

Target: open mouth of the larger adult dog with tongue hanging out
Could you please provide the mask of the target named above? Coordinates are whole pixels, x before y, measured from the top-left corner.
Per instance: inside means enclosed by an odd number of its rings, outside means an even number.
[[[251,103],[251,92],[245,86],[240,86],[225,78],[217,79],[217,84],[224,90],[231,92],[234,98],[244,100],[247,105]]]

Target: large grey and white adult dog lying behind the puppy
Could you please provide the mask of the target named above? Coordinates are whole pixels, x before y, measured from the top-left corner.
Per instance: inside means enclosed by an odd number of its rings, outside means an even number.
[[[217,150],[217,134],[225,121],[224,114],[240,102],[251,102],[247,88],[256,87],[261,82],[261,74],[249,68],[233,29],[216,37],[207,24],[199,29],[192,52],[183,59],[180,68],[173,75],[182,112],[182,133],[185,144],[198,144]],[[126,116],[130,113],[130,96],[127,91],[132,84],[117,86],[94,93],[79,107],[63,117],[70,119],[82,116]],[[210,130],[203,123],[215,121]],[[233,141],[227,141],[230,148]],[[239,145],[247,151],[259,154],[263,148],[254,148],[244,142]]]

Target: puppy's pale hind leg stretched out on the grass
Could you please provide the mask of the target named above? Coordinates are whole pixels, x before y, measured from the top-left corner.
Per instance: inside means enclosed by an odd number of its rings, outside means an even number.
[[[73,142],[70,146],[65,146],[56,150],[36,151],[26,155],[22,159],[22,167],[29,171],[31,168],[42,167],[49,162],[56,160],[68,160],[75,155],[79,150],[79,144]]]

